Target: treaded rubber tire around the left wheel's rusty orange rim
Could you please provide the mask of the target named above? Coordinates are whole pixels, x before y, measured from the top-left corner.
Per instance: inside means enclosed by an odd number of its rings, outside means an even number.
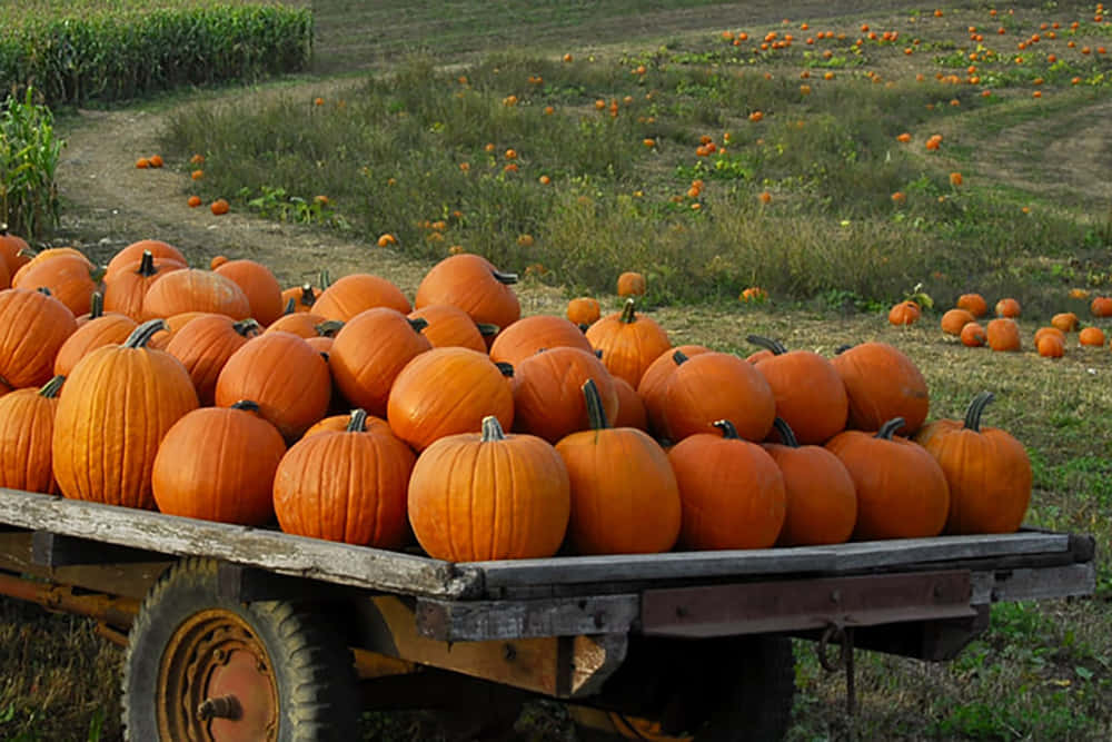
[[[339,636],[311,612],[288,602],[238,603],[220,597],[216,562],[188,558],[151,587],[131,626],[122,681],[126,740],[159,739],[156,699],[163,651],[186,620],[209,609],[236,614],[269,655],[278,695],[278,742],[359,739],[355,666]]]

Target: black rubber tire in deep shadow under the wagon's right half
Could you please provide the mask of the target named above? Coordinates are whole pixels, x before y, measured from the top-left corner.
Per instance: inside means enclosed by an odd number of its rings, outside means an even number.
[[[671,679],[669,700],[703,720],[688,731],[695,742],[784,739],[795,699],[795,656],[790,639],[767,635],[702,641],[688,643],[686,651],[676,646],[667,644],[668,651],[661,652],[662,663],[655,672]],[[577,730],[577,736],[580,742],[628,739],[584,728]]]

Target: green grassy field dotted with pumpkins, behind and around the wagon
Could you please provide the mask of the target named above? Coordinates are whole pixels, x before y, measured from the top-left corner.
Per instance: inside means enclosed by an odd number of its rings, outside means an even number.
[[[321,77],[208,95],[167,116],[168,161],[206,156],[203,179],[182,178],[183,189],[341,235],[350,250],[337,259],[374,265],[386,233],[425,265],[456,244],[487,253],[525,274],[533,311],[559,313],[578,291],[613,307],[616,274],[641,269],[674,344],[745,355],[744,337],[757,333],[831,355],[882,339],[923,369],[932,418],[993,390],[986,423],[1019,437],[1034,466],[1027,522],[1096,537],[1096,595],[995,606],[990,631],[944,665],[861,652],[853,719],[842,679],[801,643],[788,739],[1112,736],[1112,354],[1071,336],[1052,362],[1030,342],[1054,311],[1109,329],[1069,297],[1112,283],[1112,61],[1099,51],[1112,28],[1095,3],[1021,2],[993,16],[971,2],[936,16],[816,2],[793,6],[788,22],[764,2],[314,8]],[[892,31],[896,40],[883,38]],[[787,33],[791,46],[773,49]],[[424,53],[403,53],[414,48]],[[905,131],[909,144],[897,139]],[[937,150],[925,147],[933,133]],[[328,208],[299,207],[317,195]],[[89,229],[75,237],[95,244]],[[297,244],[259,244],[258,259],[285,280],[321,267],[304,265]],[[888,326],[888,304],[920,283],[936,310]],[[737,301],[751,284],[772,301]],[[965,290],[1020,298],[1022,353],[965,348],[939,332],[941,310]],[[116,739],[118,653],[82,622],[38,615],[0,602],[0,663],[12,669],[0,681],[0,738]],[[574,739],[546,705],[519,729]],[[420,714],[375,715],[366,739],[438,730]]]

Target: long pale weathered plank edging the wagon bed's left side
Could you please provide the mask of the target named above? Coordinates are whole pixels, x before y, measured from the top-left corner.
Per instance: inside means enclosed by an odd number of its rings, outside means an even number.
[[[0,523],[413,595],[464,597],[481,575],[437,560],[0,488]]]

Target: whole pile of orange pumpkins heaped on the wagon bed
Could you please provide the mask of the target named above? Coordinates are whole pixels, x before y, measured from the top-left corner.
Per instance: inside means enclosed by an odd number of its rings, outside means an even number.
[[[0,485],[454,562],[1019,528],[1009,434],[925,424],[895,347],[748,358],[627,299],[520,316],[483,257],[415,300],[373,274],[285,290],[141,240],[105,268],[0,241]]]

